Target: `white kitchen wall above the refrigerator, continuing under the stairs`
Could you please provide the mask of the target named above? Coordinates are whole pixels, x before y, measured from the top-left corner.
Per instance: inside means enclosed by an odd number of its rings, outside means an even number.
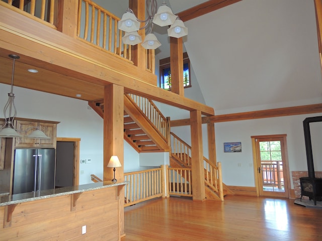
[[[5,106],[8,92],[10,85],[0,84],[0,108]],[[79,184],[91,183],[91,174],[103,178],[103,119],[87,101],[16,86],[13,92],[18,117],[57,121],[57,137],[81,138],[80,159],[92,162],[80,164],[84,174],[79,175]],[[138,165],[139,155],[124,142],[124,171],[137,170]]]

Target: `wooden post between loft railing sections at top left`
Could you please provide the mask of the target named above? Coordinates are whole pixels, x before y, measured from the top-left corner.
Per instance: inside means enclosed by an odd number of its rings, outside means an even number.
[[[55,1],[55,8],[58,8],[57,30],[75,38],[77,33],[78,1],[60,0],[58,6]]]

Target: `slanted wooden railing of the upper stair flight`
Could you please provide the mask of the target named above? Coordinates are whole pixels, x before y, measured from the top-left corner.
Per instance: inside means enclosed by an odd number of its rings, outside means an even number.
[[[168,133],[170,130],[168,119],[161,113],[156,105],[148,98],[136,95],[126,94],[138,107],[144,115],[149,119],[159,133],[168,141]]]

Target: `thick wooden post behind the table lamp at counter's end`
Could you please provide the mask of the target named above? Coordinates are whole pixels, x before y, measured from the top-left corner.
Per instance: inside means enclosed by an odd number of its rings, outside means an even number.
[[[113,169],[107,164],[111,156],[118,156],[122,167],[116,168],[115,178],[124,181],[124,87],[110,84],[104,88],[104,172],[103,181],[113,179]],[[124,235],[124,192],[118,200],[119,236]],[[119,239],[120,240],[120,239]]]

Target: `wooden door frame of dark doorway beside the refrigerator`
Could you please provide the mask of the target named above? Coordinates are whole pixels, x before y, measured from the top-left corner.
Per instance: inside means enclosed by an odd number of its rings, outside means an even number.
[[[79,152],[81,146],[81,138],[68,138],[68,137],[57,137],[57,142],[73,142],[73,171],[72,171],[72,185],[79,185]]]

